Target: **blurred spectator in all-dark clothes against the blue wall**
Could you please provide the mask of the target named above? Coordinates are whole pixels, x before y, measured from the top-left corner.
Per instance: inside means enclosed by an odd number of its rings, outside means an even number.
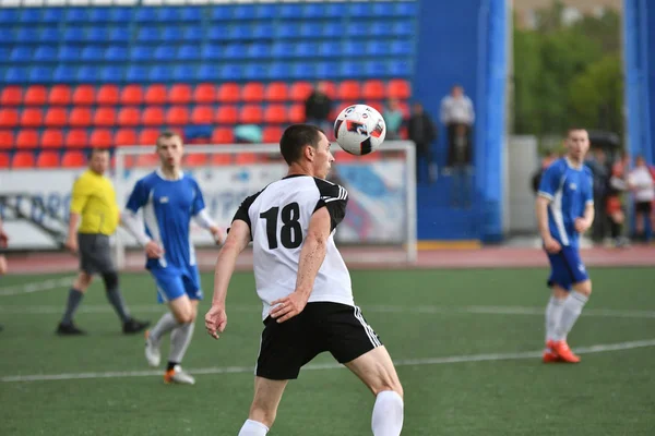
[[[407,133],[409,141],[416,145],[416,181],[421,181],[421,161],[428,167],[428,179],[430,183],[437,180],[437,168],[432,162],[431,144],[437,140],[437,128],[422,108],[420,102],[415,102],[412,106],[412,116],[407,122]]]

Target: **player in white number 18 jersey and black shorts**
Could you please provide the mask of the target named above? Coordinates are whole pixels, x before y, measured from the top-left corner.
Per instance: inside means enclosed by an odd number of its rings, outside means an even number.
[[[239,436],[265,435],[289,379],[321,352],[355,373],[377,397],[376,436],[403,427],[403,388],[393,362],[354,304],[350,275],[334,244],[348,193],[325,177],[334,161],[318,128],[289,126],[279,142],[289,166],[284,179],[246,198],[216,262],[214,298],[205,316],[210,335],[227,325],[225,298],[239,253],[253,244],[257,292],[264,330],[254,399]]]

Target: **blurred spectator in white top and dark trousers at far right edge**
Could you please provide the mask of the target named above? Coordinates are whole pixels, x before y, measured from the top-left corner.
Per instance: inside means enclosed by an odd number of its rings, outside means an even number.
[[[635,218],[635,239],[650,241],[652,235],[651,215],[653,213],[653,199],[655,199],[655,189],[653,175],[642,156],[634,160],[634,169],[628,177],[628,185],[634,192],[634,218]]]

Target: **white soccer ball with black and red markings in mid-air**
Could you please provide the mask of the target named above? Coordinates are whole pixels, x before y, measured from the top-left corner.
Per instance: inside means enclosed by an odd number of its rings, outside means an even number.
[[[334,121],[334,137],[345,152],[362,156],[377,150],[386,135],[384,119],[367,105],[348,106]]]

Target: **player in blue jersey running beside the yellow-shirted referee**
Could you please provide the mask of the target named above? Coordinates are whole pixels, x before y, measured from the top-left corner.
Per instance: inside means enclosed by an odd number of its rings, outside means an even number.
[[[158,366],[162,337],[171,331],[164,382],[192,385],[193,377],[180,366],[193,335],[198,302],[202,299],[190,238],[191,219],[209,230],[216,243],[221,243],[223,234],[206,213],[198,182],[180,170],[181,137],[176,133],[163,133],[157,138],[157,154],[160,168],[136,182],[122,220],[145,247],[146,269],[155,279],[158,301],[168,304],[170,310],[146,332],[145,358],[151,366]],[[136,218],[139,209],[143,209],[145,229]]]

